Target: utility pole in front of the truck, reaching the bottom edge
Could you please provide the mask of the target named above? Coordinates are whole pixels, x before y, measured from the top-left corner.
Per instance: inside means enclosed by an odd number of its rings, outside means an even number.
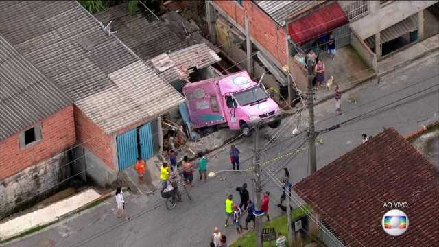
[[[261,210],[261,167],[259,167],[259,124],[254,127],[254,197],[256,202],[256,209]],[[256,224],[256,246],[263,247],[262,243],[262,217],[257,216]]]

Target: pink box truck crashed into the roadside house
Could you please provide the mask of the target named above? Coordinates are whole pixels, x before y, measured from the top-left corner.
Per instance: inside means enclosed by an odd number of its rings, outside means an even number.
[[[183,87],[193,128],[227,124],[249,137],[252,126],[281,124],[278,104],[246,71],[189,83]]]

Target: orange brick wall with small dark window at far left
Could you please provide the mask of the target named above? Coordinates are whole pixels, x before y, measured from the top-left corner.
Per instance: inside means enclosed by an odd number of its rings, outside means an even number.
[[[0,180],[47,158],[51,158],[75,143],[73,106],[58,111],[40,121],[41,141],[25,149],[20,148],[16,133],[0,142]]]

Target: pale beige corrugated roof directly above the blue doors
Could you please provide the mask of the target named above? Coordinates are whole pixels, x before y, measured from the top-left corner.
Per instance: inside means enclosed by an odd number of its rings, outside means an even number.
[[[106,132],[154,117],[184,102],[180,94],[175,97],[174,90],[157,88],[163,80],[142,61],[110,73],[108,78],[116,86],[75,102],[85,113],[91,113],[91,120]]]

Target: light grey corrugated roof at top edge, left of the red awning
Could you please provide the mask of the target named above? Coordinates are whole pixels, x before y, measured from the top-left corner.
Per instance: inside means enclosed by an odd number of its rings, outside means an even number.
[[[289,15],[294,15],[294,13],[307,8],[311,5],[317,5],[318,1],[254,1],[256,5],[261,8],[265,13],[267,13],[278,25],[281,27],[285,26],[285,18]]]

